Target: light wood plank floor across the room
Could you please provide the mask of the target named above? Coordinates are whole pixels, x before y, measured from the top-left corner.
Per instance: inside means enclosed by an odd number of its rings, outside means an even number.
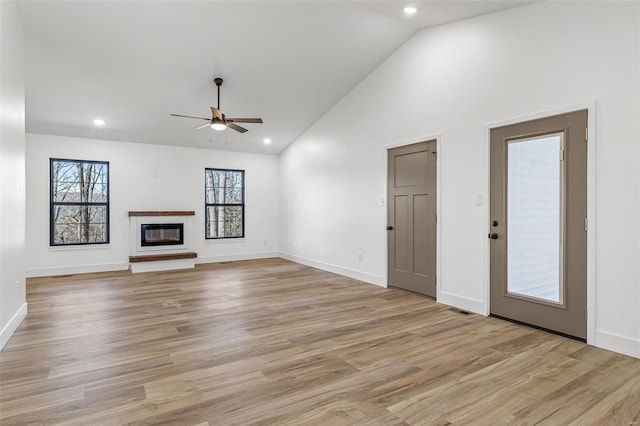
[[[640,419],[640,360],[281,259],[27,290],[2,426]]]

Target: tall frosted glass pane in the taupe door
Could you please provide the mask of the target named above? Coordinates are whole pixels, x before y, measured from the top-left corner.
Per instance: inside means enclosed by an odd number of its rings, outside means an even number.
[[[563,304],[563,133],[507,144],[507,294]]]

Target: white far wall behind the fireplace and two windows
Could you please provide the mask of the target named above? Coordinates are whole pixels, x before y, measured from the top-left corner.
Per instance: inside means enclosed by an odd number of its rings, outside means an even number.
[[[111,243],[49,247],[49,158],[109,161]],[[205,240],[204,169],[245,170],[245,238]],[[27,275],[127,269],[130,210],[194,210],[196,263],[274,257],[278,158],[210,149],[27,134]]]

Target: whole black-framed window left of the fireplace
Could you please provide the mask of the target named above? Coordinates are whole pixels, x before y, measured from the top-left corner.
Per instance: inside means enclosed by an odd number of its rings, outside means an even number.
[[[49,244],[109,242],[109,163],[50,159]]]

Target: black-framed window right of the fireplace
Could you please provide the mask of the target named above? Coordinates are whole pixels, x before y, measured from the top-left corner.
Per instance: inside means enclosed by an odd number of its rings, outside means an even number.
[[[244,170],[205,169],[205,237],[244,237]]]

